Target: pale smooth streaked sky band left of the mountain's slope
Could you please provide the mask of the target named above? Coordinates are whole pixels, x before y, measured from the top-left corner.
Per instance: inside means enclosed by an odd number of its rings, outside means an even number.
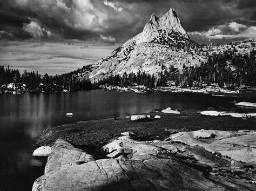
[[[0,63],[3,66],[10,65],[21,72],[26,69],[38,71],[40,74],[55,75],[95,63],[117,47],[95,46],[85,42],[68,45],[51,42],[40,44],[29,40],[8,43],[0,41]]]

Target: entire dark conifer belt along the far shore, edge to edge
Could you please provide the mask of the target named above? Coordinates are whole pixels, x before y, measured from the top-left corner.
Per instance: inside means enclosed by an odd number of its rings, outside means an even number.
[[[170,66],[169,70],[162,67],[163,71],[156,74],[147,74],[145,71],[137,73],[124,73],[123,75],[110,75],[104,79],[94,80],[88,77],[92,65],[87,65],[69,73],[49,76],[38,72],[20,73],[18,70],[0,66],[0,86],[14,83],[16,87],[23,84],[31,91],[69,91],[91,90],[100,85],[133,86],[144,85],[150,88],[156,86],[203,87],[204,85],[218,84],[219,87],[233,89],[241,85],[256,86],[256,64],[254,49],[250,54],[241,55],[234,51],[213,53],[208,56],[207,62],[199,66],[183,65],[182,70]]]

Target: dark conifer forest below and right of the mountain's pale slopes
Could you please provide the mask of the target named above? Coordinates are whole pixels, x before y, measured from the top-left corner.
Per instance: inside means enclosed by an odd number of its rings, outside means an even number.
[[[145,71],[137,73],[124,73],[122,76],[110,75],[104,79],[94,81],[93,86],[113,85],[127,87],[144,85],[150,88],[156,86],[203,87],[204,85],[218,84],[219,87],[233,89],[241,85],[256,86],[255,53],[250,55],[225,51],[213,53],[208,56],[206,63],[200,66],[183,65],[183,70],[171,66],[163,70],[158,76],[146,74]]]

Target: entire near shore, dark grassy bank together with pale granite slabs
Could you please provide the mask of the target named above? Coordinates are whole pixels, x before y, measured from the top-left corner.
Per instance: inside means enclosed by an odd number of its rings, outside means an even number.
[[[256,118],[196,112],[150,112],[140,121],[108,118],[45,129],[37,141],[44,147],[34,153],[48,162],[32,190],[252,190]]]

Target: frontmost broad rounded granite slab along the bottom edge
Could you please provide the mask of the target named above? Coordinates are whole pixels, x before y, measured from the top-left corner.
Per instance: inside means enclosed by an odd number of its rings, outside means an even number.
[[[198,170],[177,161],[140,156],[140,160],[101,159],[53,171],[37,179],[32,190],[177,190],[198,187],[228,188],[201,177]]]

